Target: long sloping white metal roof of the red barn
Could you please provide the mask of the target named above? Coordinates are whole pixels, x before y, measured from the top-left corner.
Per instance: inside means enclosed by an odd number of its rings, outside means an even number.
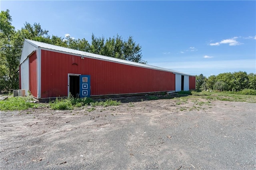
[[[34,40],[25,39],[25,41],[30,43],[31,45],[33,45],[35,47],[41,47],[41,48],[44,48],[44,49],[52,49],[54,51],[55,50],[56,51],[62,51],[62,52],[66,52],[66,53],[70,53],[70,54],[74,54],[74,55],[80,55],[80,56],[84,56],[84,57],[87,56],[87,57],[106,60],[106,61],[110,61],[110,62],[122,63],[122,64],[126,64],[126,65],[133,65],[133,66],[156,69],[156,70],[161,70],[161,71],[168,71],[168,72],[172,72],[174,74],[194,76],[194,75],[189,75],[189,74],[182,73],[182,72],[179,72],[179,71],[175,71],[175,70],[172,70],[172,69],[165,69],[165,68],[156,67],[156,66],[153,66],[153,65],[136,63],[136,62],[133,62],[133,61],[127,61],[127,60],[124,60],[124,59],[118,59],[118,58],[114,58],[114,57],[107,57],[107,56],[104,56],[104,55],[88,53],[88,52],[85,52],[85,51],[79,51],[79,50],[70,49],[70,48],[67,48],[67,47],[61,47],[61,46],[52,45],[52,44],[48,44],[48,43],[37,42],[37,41],[34,41]]]

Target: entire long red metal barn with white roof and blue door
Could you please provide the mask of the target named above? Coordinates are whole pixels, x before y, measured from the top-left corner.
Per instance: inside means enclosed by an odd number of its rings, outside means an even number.
[[[134,95],[196,88],[178,71],[24,40],[20,89],[37,99]]]

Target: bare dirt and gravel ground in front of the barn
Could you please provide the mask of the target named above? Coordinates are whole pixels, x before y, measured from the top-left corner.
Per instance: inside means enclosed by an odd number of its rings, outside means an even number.
[[[0,169],[256,169],[256,104],[142,101],[1,112]]]

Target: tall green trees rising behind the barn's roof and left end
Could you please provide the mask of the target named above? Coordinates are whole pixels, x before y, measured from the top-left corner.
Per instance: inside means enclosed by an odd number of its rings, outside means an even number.
[[[20,30],[12,26],[10,11],[0,13],[0,91],[18,89],[18,68],[24,39],[49,43],[80,51],[115,57],[128,61],[146,64],[142,60],[142,47],[136,43],[132,36],[124,40],[118,34],[112,38],[95,37],[92,34],[91,42],[85,38],[74,39],[69,36],[62,38],[48,35],[48,30],[41,28],[40,23],[25,23]]]

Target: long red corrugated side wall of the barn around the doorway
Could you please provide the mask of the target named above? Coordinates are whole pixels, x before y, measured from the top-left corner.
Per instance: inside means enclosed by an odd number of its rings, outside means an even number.
[[[68,73],[91,75],[91,95],[175,90],[170,72],[42,50],[41,98],[67,96]]]

